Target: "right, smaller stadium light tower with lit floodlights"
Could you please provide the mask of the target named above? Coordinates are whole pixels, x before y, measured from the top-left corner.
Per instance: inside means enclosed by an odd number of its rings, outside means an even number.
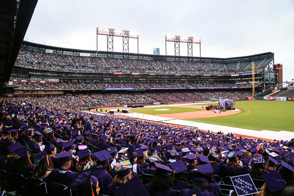
[[[175,43],[175,56],[180,56],[180,42],[187,43],[188,44],[188,61],[192,60],[189,57],[193,56],[193,43],[199,43],[200,57],[201,57],[201,38],[166,35],[166,42],[167,41],[172,41]],[[180,58],[175,58],[175,61],[180,61]]]

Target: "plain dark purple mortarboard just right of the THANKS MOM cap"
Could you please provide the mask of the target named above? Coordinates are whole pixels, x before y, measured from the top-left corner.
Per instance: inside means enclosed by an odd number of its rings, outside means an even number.
[[[262,177],[270,192],[276,192],[287,188],[285,180],[278,171],[264,174]]]

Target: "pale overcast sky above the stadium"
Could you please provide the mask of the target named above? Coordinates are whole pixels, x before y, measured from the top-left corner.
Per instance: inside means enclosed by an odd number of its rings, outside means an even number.
[[[201,37],[201,56],[235,57],[275,53],[283,81],[294,78],[294,1],[76,1],[39,0],[25,40],[51,46],[96,50],[96,28],[138,31],[139,53],[165,54],[165,35]],[[106,51],[106,36],[98,50]],[[122,38],[114,38],[122,52]],[[130,39],[137,53],[137,40]],[[174,55],[174,43],[167,43]],[[187,55],[187,43],[180,45]],[[199,44],[193,44],[199,56]]]

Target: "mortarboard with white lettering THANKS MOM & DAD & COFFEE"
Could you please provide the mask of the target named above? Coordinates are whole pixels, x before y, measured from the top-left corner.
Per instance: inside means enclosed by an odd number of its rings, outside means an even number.
[[[254,195],[258,193],[249,174],[230,177],[238,196]]]

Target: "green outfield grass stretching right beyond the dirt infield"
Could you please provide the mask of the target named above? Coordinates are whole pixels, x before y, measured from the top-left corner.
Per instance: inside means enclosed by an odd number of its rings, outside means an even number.
[[[240,109],[241,112],[228,116],[186,120],[254,130],[294,131],[292,101],[236,101],[235,108]]]

